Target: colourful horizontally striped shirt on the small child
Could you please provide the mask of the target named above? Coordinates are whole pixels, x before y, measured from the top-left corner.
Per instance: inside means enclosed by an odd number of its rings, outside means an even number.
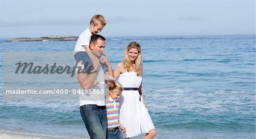
[[[106,100],[108,128],[119,127],[119,120],[118,120],[119,111],[118,110],[119,110],[119,102],[109,97],[109,100]]]

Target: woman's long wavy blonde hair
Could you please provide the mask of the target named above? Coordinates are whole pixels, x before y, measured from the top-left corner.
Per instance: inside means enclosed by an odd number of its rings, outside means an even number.
[[[130,42],[126,47],[125,53],[124,53],[124,59],[123,59],[123,69],[125,69],[127,72],[130,71],[131,60],[129,59],[128,51],[133,48],[138,50],[138,57],[135,59],[135,70],[137,72],[137,76],[141,76],[142,75],[142,53],[141,53],[141,45],[139,45],[138,42],[135,42],[135,41]]]

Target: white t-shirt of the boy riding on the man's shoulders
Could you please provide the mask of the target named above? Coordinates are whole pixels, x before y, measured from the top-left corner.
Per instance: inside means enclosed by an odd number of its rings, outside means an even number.
[[[92,36],[92,33],[90,33],[89,28],[85,29],[84,32],[82,32],[77,39],[76,47],[74,52],[74,55],[79,51],[85,51],[84,45],[90,45],[90,36]]]

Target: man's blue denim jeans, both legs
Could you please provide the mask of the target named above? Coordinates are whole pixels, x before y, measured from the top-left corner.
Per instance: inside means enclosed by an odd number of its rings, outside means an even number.
[[[83,105],[80,106],[80,114],[90,138],[106,138],[106,106]]]

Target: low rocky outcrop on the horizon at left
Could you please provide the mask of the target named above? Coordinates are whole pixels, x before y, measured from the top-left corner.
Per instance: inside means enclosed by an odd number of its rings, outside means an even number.
[[[8,40],[7,42],[16,41],[76,41],[77,36],[48,36],[40,38],[14,38],[13,40]]]

